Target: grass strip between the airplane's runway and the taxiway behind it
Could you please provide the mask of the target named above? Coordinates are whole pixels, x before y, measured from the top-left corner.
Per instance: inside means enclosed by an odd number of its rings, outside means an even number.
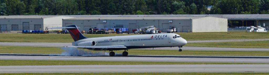
[[[23,47],[23,46],[0,46],[0,53],[37,53],[37,54],[61,54],[58,47]],[[104,52],[92,51],[89,52]],[[121,54],[123,50],[114,51]],[[176,50],[128,50],[133,55],[217,55],[217,56],[269,56],[269,52],[261,51],[187,51]]]

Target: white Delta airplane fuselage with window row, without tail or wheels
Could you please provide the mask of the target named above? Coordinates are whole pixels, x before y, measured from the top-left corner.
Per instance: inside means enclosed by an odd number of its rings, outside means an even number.
[[[175,38],[176,37],[176,38]],[[175,33],[111,36],[99,38],[87,38],[73,42],[73,46],[93,46],[80,44],[82,42],[94,41],[94,46],[117,46],[124,45],[127,49],[152,48],[152,47],[176,47],[183,46],[187,41]]]

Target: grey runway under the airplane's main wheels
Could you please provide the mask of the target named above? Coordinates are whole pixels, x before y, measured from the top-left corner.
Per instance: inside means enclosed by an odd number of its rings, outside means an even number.
[[[59,54],[0,54],[0,60],[73,60],[73,61],[133,61],[133,62],[217,62],[217,63],[269,63],[268,56],[59,56]]]

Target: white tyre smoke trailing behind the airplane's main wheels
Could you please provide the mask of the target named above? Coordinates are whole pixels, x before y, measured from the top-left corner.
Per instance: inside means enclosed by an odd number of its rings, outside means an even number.
[[[84,50],[76,47],[62,47],[62,54],[60,56],[109,56],[109,51],[93,51]],[[122,54],[115,53],[115,56],[122,56]]]

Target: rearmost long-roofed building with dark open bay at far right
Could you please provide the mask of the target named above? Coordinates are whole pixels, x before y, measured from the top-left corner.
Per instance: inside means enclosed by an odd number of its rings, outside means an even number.
[[[269,14],[205,14],[205,15],[65,15],[72,17],[216,17],[228,19],[228,27],[269,27]],[[208,20],[209,21],[209,20]]]

